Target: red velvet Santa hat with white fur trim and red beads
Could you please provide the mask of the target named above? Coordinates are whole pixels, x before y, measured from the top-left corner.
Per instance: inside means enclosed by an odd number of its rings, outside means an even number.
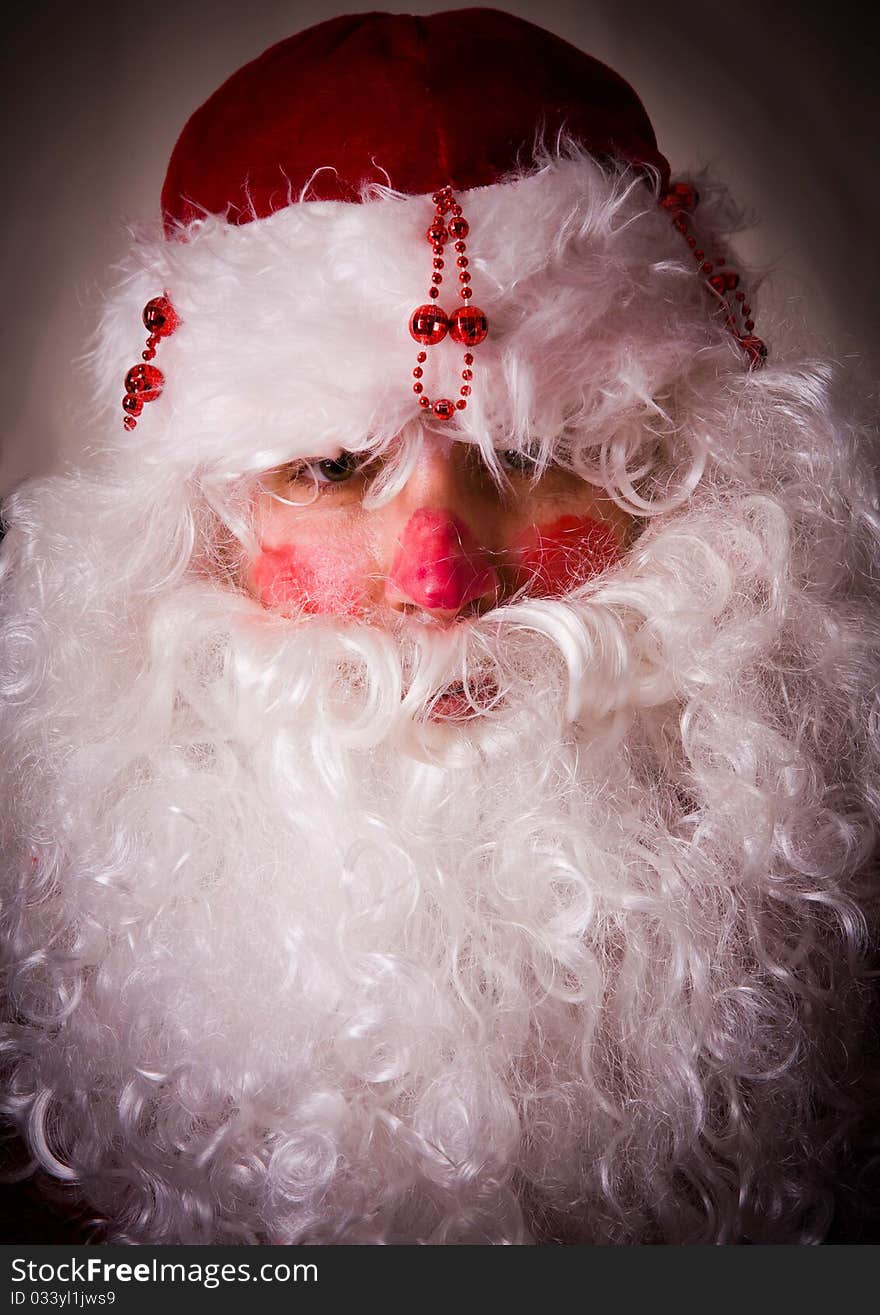
[[[652,214],[626,255],[623,193],[629,218]],[[581,409],[591,370],[626,375],[639,400],[662,385],[626,360],[647,363],[662,338],[687,359],[706,304],[759,359],[737,275],[691,230],[695,203],[670,185],[631,87],[534,24],[495,9],[331,18],[235,72],[180,134],[162,191],[171,241],[126,284],[150,335],[116,373],[125,425],[164,392],[160,459],[249,469],[381,444],[420,408],[484,447],[499,430],[531,442]],[[621,327],[648,285],[652,305]],[[670,312],[688,300],[697,339]],[[447,330],[463,354],[430,351]],[[462,359],[474,346],[479,360]]]

